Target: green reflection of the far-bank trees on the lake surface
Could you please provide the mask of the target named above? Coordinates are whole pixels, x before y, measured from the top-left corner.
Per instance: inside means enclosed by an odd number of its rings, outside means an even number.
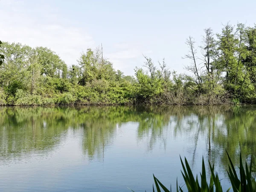
[[[225,149],[235,163],[256,154],[256,107],[230,106],[117,106],[59,108],[0,108],[0,160],[22,159],[35,151],[47,154],[65,141],[68,130],[81,130],[81,148],[89,160],[104,161],[117,129],[127,122],[137,126],[137,142],[147,150],[159,142],[163,148],[173,138],[189,135],[187,148],[195,163],[198,150],[218,166],[227,166]],[[204,148],[198,149],[198,140]],[[185,141],[186,142],[186,141]],[[38,152],[39,151],[39,152]]]

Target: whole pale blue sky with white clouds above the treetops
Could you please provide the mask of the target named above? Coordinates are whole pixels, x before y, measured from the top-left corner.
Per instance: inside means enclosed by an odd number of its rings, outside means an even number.
[[[143,65],[142,54],[183,73],[189,35],[199,44],[204,28],[256,22],[255,0],[0,0],[0,11],[1,41],[49,47],[68,65],[102,43],[125,75]]]

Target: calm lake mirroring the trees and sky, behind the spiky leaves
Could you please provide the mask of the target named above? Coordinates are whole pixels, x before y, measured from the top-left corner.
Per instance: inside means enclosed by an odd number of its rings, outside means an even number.
[[[180,156],[202,157],[224,188],[227,154],[256,154],[256,106],[0,108],[0,191],[152,191],[153,173],[176,190]],[[207,167],[209,174],[209,167]]]

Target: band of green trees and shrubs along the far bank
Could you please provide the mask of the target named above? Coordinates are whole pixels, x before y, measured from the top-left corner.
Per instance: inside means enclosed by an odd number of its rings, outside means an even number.
[[[204,29],[200,46],[192,37],[186,44],[188,74],[169,70],[164,60],[157,67],[145,56],[135,76],[124,76],[102,49],[87,49],[68,67],[47,47],[3,42],[0,105],[256,103],[256,26],[227,23],[220,34]]]

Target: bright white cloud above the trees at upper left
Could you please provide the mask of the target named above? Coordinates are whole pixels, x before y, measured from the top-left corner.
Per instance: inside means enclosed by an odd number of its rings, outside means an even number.
[[[21,1],[5,1],[4,7],[1,10],[4,17],[0,20],[1,41],[48,47],[68,65],[76,64],[81,50],[94,46],[93,38],[86,31],[68,24],[64,26],[63,20],[49,9],[46,13],[45,7],[35,8],[35,17],[29,15],[30,10]]]

